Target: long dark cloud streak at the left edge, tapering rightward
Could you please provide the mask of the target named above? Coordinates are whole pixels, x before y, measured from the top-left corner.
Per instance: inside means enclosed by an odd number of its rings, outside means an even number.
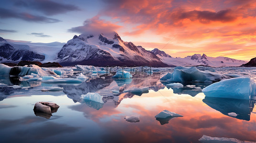
[[[39,23],[55,23],[60,22],[60,20],[48,18],[45,16],[38,16],[38,15],[32,15],[29,13],[18,13],[14,10],[7,10],[0,8],[0,18],[7,19],[7,18],[16,18],[21,19],[25,21],[31,21],[31,22],[39,22]]]

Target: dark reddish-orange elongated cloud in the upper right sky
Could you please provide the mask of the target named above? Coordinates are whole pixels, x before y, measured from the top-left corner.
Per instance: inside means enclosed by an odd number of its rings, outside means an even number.
[[[221,22],[229,22],[236,19],[233,15],[232,10],[221,10],[218,12],[212,11],[200,11],[200,10],[192,10],[192,11],[178,11],[172,14],[173,20],[199,20],[201,23],[209,23],[211,21],[221,21]]]

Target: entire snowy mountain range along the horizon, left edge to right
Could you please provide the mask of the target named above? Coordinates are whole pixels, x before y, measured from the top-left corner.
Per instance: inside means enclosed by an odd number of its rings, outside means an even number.
[[[59,62],[63,66],[240,66],[246,61],[227,57],[207,57],[194,54],[185,58],[174,58],[155,48],[145,50],[132,42],[126,42],[116,33],[104,35],[75,35],[67,43],[31,43],[5,40],[0,37],[0,62],[41,61]]]

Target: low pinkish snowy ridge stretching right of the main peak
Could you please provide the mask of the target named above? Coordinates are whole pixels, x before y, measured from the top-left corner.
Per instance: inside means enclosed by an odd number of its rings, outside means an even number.
[[[157,53],[156,56],[169,66],[198,66],[205,65],[211,67],[227,67],[227,66],[240,66],[245,64],[246,61],[235,60],[227,57],[207,57],[205,54],[194,54],[185,58],[173,58],[166,54],[164,51],[152,50],[151,52]],[[168,56],[167,56],[168,55]]]

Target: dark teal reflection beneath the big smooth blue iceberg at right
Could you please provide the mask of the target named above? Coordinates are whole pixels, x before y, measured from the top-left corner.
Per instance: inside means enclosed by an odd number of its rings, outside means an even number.
[[[250,121],[250,115],[255,104],[255,101],[252,100],[216,97],[205,97],[202,101],[224,115],[246,121]],[[236,113],[237,116],[229,115],[232,112]]]

